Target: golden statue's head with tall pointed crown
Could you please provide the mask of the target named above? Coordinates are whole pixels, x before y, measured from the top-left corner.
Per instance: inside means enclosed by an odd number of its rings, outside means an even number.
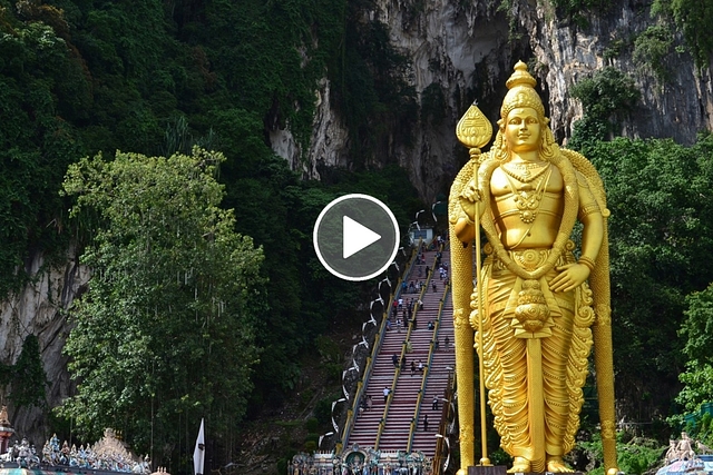
[[[500,107],[498,133],[494,147],[500,160],[509,158],[509,151],[519,151],[518,147],[537,147],[544,158],[556,152],[555,139],[549,129],[549,119],[545,117],[545,106],[535,90],[537,81],[527,71],[527,65],[518,61],[515,72],[507,80],[508,92]],[[527,137],[520,137],[517,128],[528,125]]]

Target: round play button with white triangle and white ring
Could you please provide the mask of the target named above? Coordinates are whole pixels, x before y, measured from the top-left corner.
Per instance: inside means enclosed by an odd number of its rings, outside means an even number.
[[[346,195],[324,207],[314,224],[314,251],[326,270],[368,280],[393,263],[401,236],[393,212],[369,195]]]

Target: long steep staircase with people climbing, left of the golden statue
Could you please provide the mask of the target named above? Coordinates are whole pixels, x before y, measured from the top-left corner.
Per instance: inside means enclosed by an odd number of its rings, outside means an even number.
[[[439,273],[426,278],[426,267],[433,267],[436,251],[426,253],[426,265],[414,265],[410,275],[404,278],[410,281],[423,281],[427,288],[421,293],[403,293],[397,295],[404,300],[418,301],[421,298],[423,305],[416,311],[416,328],[398,328],[394,316],[391,318],[391,330],[387,331],[379,355],[373,362],[371,377],[365,382],[364,397],[371,396],[371,409],[358,412],[352,425],[348,445],[359,444],[360,447],[374,447],[380,451],[421,451],[428,457],[436,452],[436,434],[441,417],[443,396],[448,385],[449,373],[452,374],[456,357],[452,348],[452,301],[450,293],[445,294],[446,280],[440,280]],[[449,253],[443,251],[442,263],[449,263]],[[419,277],[419,273],[420,276]],[[436,291],[433,290],[436,284]],[[440,314],[441,299],[445,298]],[[404,321],[402,313],[398,311],[398,318]],[[429,329],[428,323],[433,321],[436,328]],[[411,344],[411,352],[407,353],[407,338]],[[446,338],[450,347],[446,347]],[[438,340],[438,349],[436,342]],[[429,362],[429,353],[433,348],[432,358]],[[406,367],[399,369],[393,365],[393,356],[397,360],[406,357]],[[411,362],[416,370],[411,370]],[[423,365],[423,372],[419,372],[419,362]],[[399,363],[400,365],[400,363]],[[383,389],[392,389],[390,404],[384,404]],[[420,396],[420,397],[419,397]],[[433,396],[439,397],[438,409],[432,408]],[[424,429],[423,419],[428,415],[428,431]],[[383,431],[379,436],[380,425]],[[413,427],[412,427],[413,426]],[[413,438],[410,439],[413,431]],[[378,446],[377,446],[378,445]],[[410,446],[410,447],[409,447]]]

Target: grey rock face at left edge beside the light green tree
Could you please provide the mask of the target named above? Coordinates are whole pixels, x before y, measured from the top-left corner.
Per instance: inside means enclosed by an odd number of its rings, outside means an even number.
[[[49,382],[47,403],[53,407],[69,395],[72,386],[67,373],[67,357],[61,354],[69,331],[62,310],[82,291],[89,280],[89,271],[78,264],[74,251],[68,253],[62,267],[46,269],[46,264],[45,257],[36,254],[28,269],[33,281],[0,303],[0,358],[4,364],[14,364],[25,338],[37,336]],[[39,447],[47,436],[51,436],[46,434],[45,415],[40,409],[22,407],[17,410],[10,406],[9,415],[16,434]]]

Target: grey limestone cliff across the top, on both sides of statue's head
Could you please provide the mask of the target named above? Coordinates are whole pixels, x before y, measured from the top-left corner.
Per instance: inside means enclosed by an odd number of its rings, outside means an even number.
[[[579,102],[570,96],[573,85],[605,66],[631,76],[642,92],[639,105],[623,118],[617,135],[671,137],[691,144],[699,131],[713,129],[710,68],[696,71],[690,55],[675,52],[680,41],[664,57],[670,73],[665,82],[652,76],[642,61],[634,61],[635,38],[656,21],[649,16],[648,2],[614,0],[607,11],[590,16],[583,28],[558,19],[549,0],[512,0],[508,14],[497,10],[500,2],[377,0],[373,4],[375,8],[364,12],[362,20],[389,26],[392,44],[412,61],[410,81],[418,93],[429,87],[440,88],[445,98],[443,120],[420,121],[412,144],[392,141],[389,150],[379,151],[380,157],[395,160],[409,171],[426,201],[432,202],[439,192],[448,191],[466,160],[453,132],[458,119],[477,100],[495,122],[505,80],[518,59],[531,66],[559,140],[570,137],[574,121],[582,117]],[[511,40],[510,31],[519,39]],[[294,169],[302,169],[311,178],[319,178],[318,166],[348,167],[350,161],[346,132],[330,110],[329,88],[321,85],[318,95],[320,108],[307,162],[273,142]],[[379,161],[377,157],[370,160]]]

